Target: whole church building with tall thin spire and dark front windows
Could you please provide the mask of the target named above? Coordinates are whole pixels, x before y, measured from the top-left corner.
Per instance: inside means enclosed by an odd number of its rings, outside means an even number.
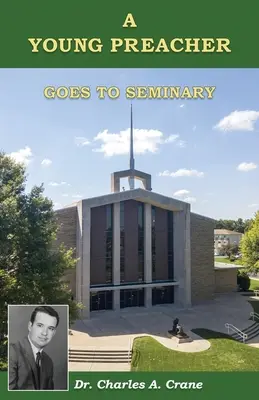
[[[111,193],[56,211],[57,244],[76,249],[77,266],[66,279],[85,319],[126,307],[190,307],[236,289],[236,270],[214,267],[215,221],[153,192],[151,176],[135,169],[132,114],[130,136],[130,168],[112,174]],[[143,188],[135,188],[136,179]]]

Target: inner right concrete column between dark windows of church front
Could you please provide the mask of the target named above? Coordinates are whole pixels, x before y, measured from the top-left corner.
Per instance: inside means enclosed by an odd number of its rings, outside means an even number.
[[[144,205],[144,281],[152,282],[152,211],[151,204]],[[145,307],[152,306],[152,288],[145,288]]]

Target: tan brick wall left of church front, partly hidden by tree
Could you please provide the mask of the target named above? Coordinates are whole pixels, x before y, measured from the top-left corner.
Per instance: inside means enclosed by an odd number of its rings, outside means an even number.
[[[77,207],[63,208],[55,212],[58,221],[57,240],[54,248],[60,244],[64,244],[67,249],[76,248],[76,232],[77,232]],[[76,252],[74,253],[76,257]],[[76,297],[76,270],[68,270],[63,278],[68,282],[69,288],[72,290],[74,298]]]

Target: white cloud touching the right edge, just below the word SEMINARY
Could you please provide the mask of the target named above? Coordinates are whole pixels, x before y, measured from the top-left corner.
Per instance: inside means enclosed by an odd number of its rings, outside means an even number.
[[[215,126],[220,131],[253,131],[259,111],[233,111]]]

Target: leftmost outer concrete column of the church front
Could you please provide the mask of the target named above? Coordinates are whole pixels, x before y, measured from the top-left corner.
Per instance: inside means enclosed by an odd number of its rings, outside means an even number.
[[[82,202],[82,284],[81,302],[84,305],[82,317],[90,317],[90,265],[91,265],[91,208]]]

